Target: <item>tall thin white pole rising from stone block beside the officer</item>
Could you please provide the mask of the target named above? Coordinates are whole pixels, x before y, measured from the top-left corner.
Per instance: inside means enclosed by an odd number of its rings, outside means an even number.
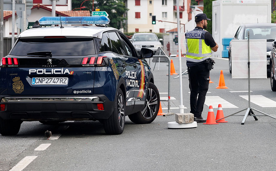
[[[182,93],[182,65],[181,65],[181,41],[180,41],[180,21],[179,21],[179,0],[176,0],[176,8],[177,8],[177,39],[178,39],[178,59],[179,59],[179,89],[180,89],[180,105],[179,105],[179,113],[184,113],[184,105],[183,105],[183,93]]]

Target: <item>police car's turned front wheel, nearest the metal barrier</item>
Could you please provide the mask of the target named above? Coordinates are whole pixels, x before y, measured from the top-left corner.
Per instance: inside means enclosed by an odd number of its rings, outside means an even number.
[[[149,83],[146,93],[146,105],[143,110],[130,114],[129,119],[136,124],[152,123],[158,114],[160,106],[160,95],[157,87]]]

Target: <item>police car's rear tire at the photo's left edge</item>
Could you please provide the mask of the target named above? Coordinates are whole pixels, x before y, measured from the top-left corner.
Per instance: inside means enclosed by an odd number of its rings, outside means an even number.
[[[0,117],[0,134],[16,135],[20,130],[21,123],[21,120],[5,120]]]

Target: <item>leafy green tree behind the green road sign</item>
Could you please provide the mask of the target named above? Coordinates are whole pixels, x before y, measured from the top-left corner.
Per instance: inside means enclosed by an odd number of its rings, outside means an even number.
[[[72,0],[72,9],[79,8],[84,0]],[[96,8],[100,11],[106,11],[110,19],[109,26],[120,29],[124,28],[127,20],[126,12],[127,7],[125,0],[94,0],[94,11]],[[83,3],[88,10],[92,12],[92,0]]]

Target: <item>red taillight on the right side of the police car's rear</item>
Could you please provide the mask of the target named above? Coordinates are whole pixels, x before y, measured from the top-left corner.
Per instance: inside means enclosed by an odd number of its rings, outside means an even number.
[[[97,58],[97,60],[96,60]],[[108,57],[84,57],[81,61],[82,66],[108,66]]]

